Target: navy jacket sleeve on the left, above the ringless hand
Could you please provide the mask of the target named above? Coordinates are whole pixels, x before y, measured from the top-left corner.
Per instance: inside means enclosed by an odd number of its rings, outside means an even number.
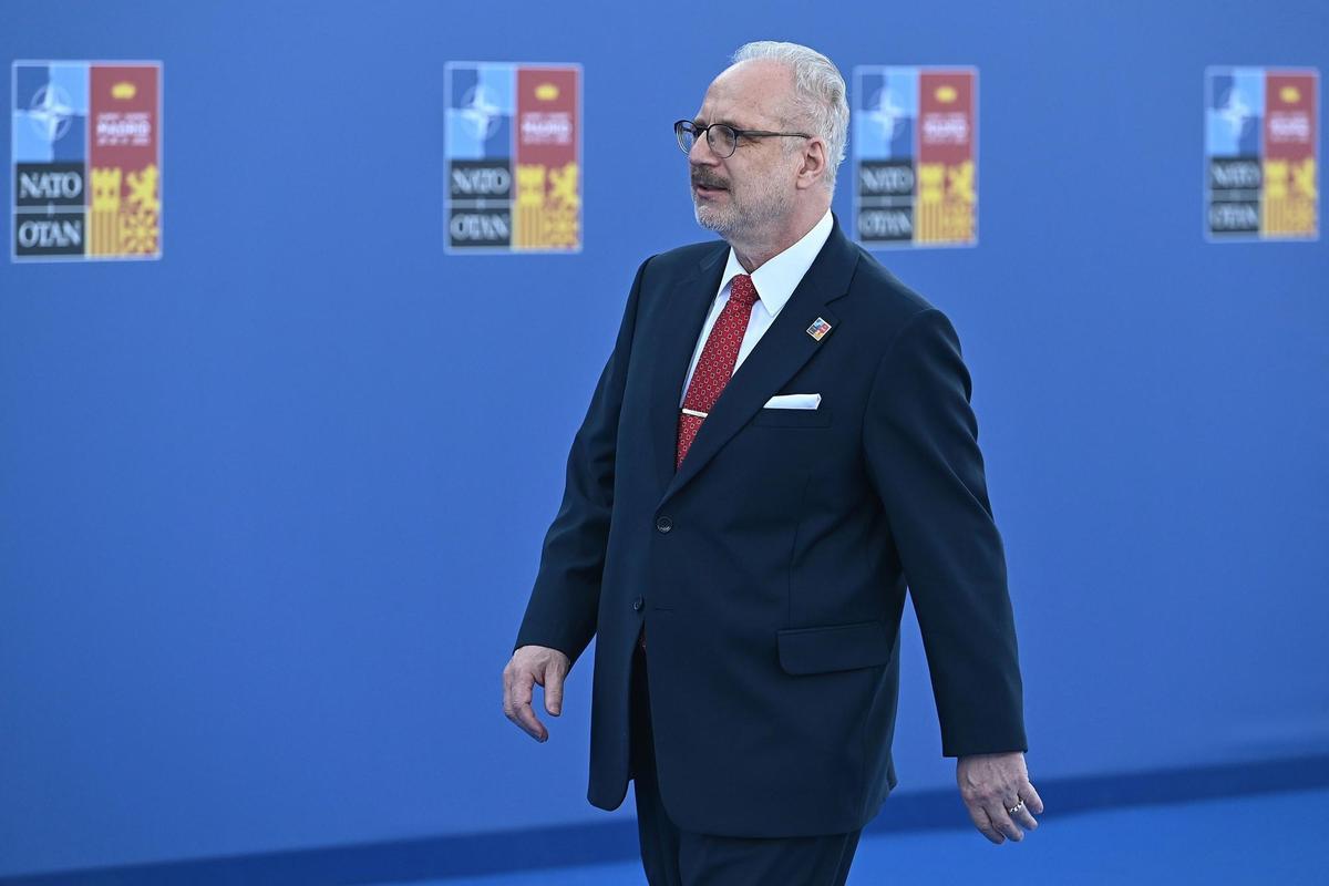
[[[601,576],[614,507],[614,456],[627,361],[646,264],[637,270],[614,351],[567,453],[563,501],[545,534],[540,571],[517,631],[517,647],[548,646],[573,662],[595,635]]]

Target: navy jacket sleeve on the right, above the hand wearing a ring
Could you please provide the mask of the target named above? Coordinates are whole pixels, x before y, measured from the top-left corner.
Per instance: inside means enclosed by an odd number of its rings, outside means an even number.
[[[969,397],[956,331],[925,310],[888,345],[864,416],[948,757],[1027,749],[1006,561]]]

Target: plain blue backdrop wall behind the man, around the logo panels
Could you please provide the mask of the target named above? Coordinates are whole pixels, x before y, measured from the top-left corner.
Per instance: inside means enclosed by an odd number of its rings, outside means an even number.
[[[0,264],[0,874],[605,820],[590,659],[546,745],[500,669],[631,275],[704,236],[670,124],[767,37],[979,70],[981,244],[881,258],[975,377],[1035,782],[1329,747],[1329,251],[1201,234],[1205,65],[1329,69],[1320,0],[4,3],[3,58],[163,62],[165,227]],[[583,65],[581,254],[444,254],[448,60]]]

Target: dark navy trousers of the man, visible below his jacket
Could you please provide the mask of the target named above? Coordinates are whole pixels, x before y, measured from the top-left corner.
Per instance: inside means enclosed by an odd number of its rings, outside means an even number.
[[[661,802],[646,654],[633,658],[631,766],[642,866],[651,886],[844,886],[859,834],[748,838],[679,830]]]

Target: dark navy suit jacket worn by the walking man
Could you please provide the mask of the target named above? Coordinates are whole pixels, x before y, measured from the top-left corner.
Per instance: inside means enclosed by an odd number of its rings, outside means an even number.
[[[946,317],[839,222],[675,473],[683,377],[728,255],[649,259],[567,458],[517,646],[595,636],[591,804],[629,781],[643,626],[659,790],[700,833],[861,828],[896,785],[905,587],[942,753],[1025,751],[1001,538]],[[821,317],[831,331],[813,339]],[[816,410],[768,409],[820,393]]]

